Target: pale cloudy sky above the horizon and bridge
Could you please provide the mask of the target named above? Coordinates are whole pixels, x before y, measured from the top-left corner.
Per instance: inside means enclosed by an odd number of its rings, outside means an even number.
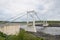
[[[0,0],[0,21],[31,10],[36,11],[41,20],[60,20],[60,0]],[[26,18],[23,16],[16,21],[26,21]]]

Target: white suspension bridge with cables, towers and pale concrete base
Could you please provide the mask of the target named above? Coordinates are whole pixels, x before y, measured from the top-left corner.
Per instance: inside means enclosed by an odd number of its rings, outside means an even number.
[[[24,12],[25,13],[25,12]],[[37,19],[39,19],[40,20],[40,18],[39,18],[39,16],[38,16],[38,13],[37,12],[35,12],[34,10],[32,10],[32,11],[27,11],[25,14],[23,14],[23,15],[21,15],[21,14],[18,14],[17,16],[14,16],[14,17],[11,17],[10,19],[7,19],[7,20],[10,20],[10,22],[9,23],[5,23],[5,25],[9,25],[11,22],[13,22],[13,21],[15,21],[15,20],[17,20],[17,19],[20,19],[20,18],[22,18],[23,16],[27,16],[26,18],[27,18],[27,20],[26,20],[26,22],[27,22],[27,26],[26,26],[26,31],[31,31],[31,32],[36,32],[36,26],[43,26],[44,28],[45,28],[45,26],[48,26],[48,23],[47,23],[47,21],[43,21],[42,23],[36,23],[35,21],[36,21],[36,19],[35,19],[35,17],[37,17]],[[32,23],[29,23],[30,22],[30,20],[29,20],[29,16],[32,18]],[[5,26],[4,25],[4,26]],[[7,28],[7,27],[6,27]]]

